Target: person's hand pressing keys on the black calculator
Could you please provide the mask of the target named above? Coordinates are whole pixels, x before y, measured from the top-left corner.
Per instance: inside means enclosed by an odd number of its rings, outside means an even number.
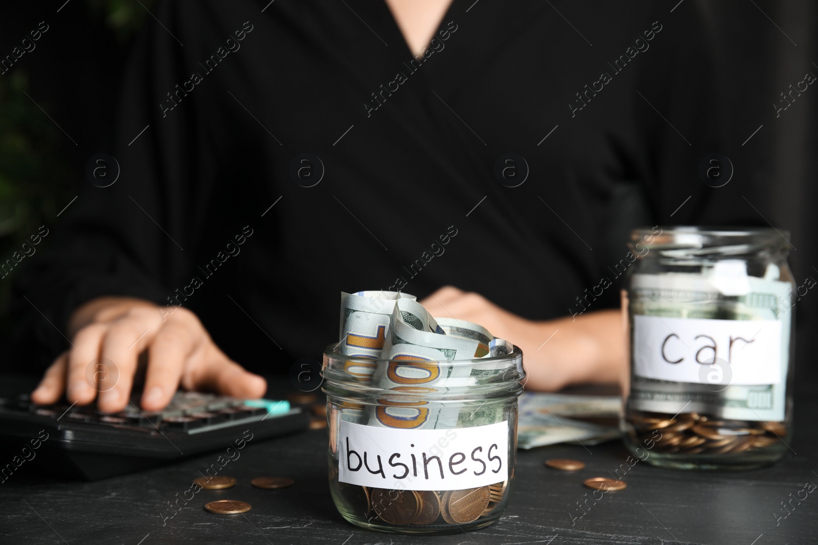
[[[185,390],[260,397],[267,382],[218,349],[191,310],[157,306],[131,297],[97,297],[69,321],[73,346],[47,369],[31,399],[52,404],[67,384],[69,403],[115,413],[130,399],[139,355],[147,351],[142,408],[164,409],[181,384]],[[107,365],[106,367],[97,364]],[[105,369],[105,373],[97,373]],[[115,382],[110,384],[110,382]]]

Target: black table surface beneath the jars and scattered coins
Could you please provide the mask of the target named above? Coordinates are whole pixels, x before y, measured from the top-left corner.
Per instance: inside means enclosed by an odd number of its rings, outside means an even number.
[[[325,429],[251,441],[220,473],[236,477],[235,487],[201,490],[187,505],[179,502],[179,511],[169,503],[220,453],[96,482],[15,473],[0,484],[0,543],[818,543],[818,494],[802,492],[818,483],[815,396],[797,395],[795,415],[792,449],[772,467],[698,472],[637,462],[624,478],[627,489],[587,502],[591,507],[582,518],[578,502],[591,497],[582,481],[609,476],[625,462],[628,453],[619,441],[520,451],[510,504],[497,523],[468,534],[404,536],[357,528],[335,510],[327,487]],[[546,458],[575,458],[587,466],[555,471],[543,465]],[[249,480],[256,476],[287,476],[295,484],[254,489]],[[793,499],[804,494],[800,502]],[[205,503],[221,498],[253,508],[232,516],[204,510]]]

